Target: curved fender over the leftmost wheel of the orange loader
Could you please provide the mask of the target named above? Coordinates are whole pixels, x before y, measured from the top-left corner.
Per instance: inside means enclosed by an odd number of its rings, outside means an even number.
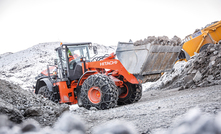
[[[51,92],[53,91],[53,84],[52,84],[52,82],[48,78],[43,78],[43,79],[38,79],[37,80],[36,88],[35,88],[35,94],[38,93],[38,90],[42,86],[47,86],[49,91],[51,91]]]

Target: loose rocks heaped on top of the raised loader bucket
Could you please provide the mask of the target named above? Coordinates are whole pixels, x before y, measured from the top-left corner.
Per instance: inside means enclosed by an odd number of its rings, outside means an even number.
[[[134,42],[134,45],[138,46],[138,45],[145,45],[148,43],[177,46],[181,43],[181,39],[176,35],[172,39],[169,39],[167,36],[159,36],[159,37],[148,36],[144,40],[138,40]]]

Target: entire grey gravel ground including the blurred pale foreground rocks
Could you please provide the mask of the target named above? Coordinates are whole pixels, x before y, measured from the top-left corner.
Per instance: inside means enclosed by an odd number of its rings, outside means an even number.
[[[219,85],[181,91],[151,90],[131,105],[109,110],[77,107],[62,114],[52,127],[42,127],[33,119],[16,125],[7,120],[10,116],[0,115],[0,133],[220,134],[220,103]]]

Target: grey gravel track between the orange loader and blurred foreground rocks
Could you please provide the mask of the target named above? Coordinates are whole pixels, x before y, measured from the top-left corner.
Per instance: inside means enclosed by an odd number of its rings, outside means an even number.
[[[107,121],[119,119],[133,123],[139,133],[153,133],[169,128],[174,120],[189,109],[199,107],[202,112],[217,114],[221,111],[221,86],[211,86],[178,91],[152,90],[144,92],[136,104],[109,110],[78,108],[72,113],[79,115],[87,126],[87,133]]]

